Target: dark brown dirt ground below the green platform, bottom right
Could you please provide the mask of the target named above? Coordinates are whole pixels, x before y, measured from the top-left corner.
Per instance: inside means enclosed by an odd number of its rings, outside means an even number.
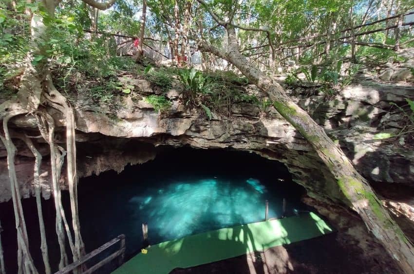
[[[350,240],[350,239],[349,239]],[[396,274],[392,262],[366,257],[339,233],[277,246],[171,274]]]

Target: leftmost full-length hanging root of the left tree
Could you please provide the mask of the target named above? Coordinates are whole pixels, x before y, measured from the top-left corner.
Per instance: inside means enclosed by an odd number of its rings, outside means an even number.
[[[17,229],[17,242],[18,242],[18,268],[19,273],[38,273],[33,259],[29,253],[29,239],[27,237],[26,223],[24,221],[23,208],[21,206],[21,196],[19,190],[19,184],[16,176],[16,169],[14,164],[16,147],[13,144],[9,129],[7,126],[8,120],[13,117],[12,115],[3,118],[3,130],[4,136],[0,135],[1,141],[7,150],[7,165],[9,170],[10,189],[12,192],[13,209],[15,213],[16,229]],[[24,267],[24,269],[23,269]]]

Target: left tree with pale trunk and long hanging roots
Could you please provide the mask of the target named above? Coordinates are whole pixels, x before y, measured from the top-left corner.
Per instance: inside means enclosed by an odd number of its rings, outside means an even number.
[[[38,273],[29,251],[29,239],[27,237],[26,224],[24,221],[23,210],[21,206],[21,196],[19,185],[14,166],[16,147],[13,144],[13,136],[8,129],[8,121],[14,116],[21,114],[32,114],[38,119],[39,131],[43,138],[50,145],[51,168],[54,188],[54,199],[56,206],[56,234],[60,246],[59,268],[67,264],[65,251],[65,239],[62,223],[66,228],[66,236],[69,239],[73,259],[77,260],[84,255],[84,244],[80,235],[78,211],[77,211],[77,175],[76,175],[76,148],[75,148],[75,117],[73,109],[67,99],[53,85],[52,77],[47,67],[47,55],[49,50],[48,38],[53,27],[56,5],[60,1],[42,0],[36,2],[38,9],[42,12],[42,18],[37,17],[31,20],[31,46],[32,51],[26,56],[25,69],[21,76],[20,89],[17,98],[10,99],[0,105],[0,117],[3,120],[4,136],[0,136],[7,150],[7,162],[9,170],[10,186],[12,190],[13,206],[16,219],[16,229],[18,235],[18,267],[19,273]],[[94,0],[84,0],[85,3],[92,7],[105,10],[113,5],[115,0],[99,3]],[[34,9],[36,10],[36,9]],[[33,13],[32,13],[33,16]],[[41,105],[48,105],[61,111],[66,118],[66,151],[56,145],[54,139],[55,125],[53,118],[48,114]],[[35,154],[37,162],[35,163],[34,177],[38,178],[38,165],[40,156],[36,152],[31,142],[26,139],[26,144]],[[69,225],[65,218],[65,213],[60,199],[60,186],[58,183],[60,170],[63,165],[63,158],[67,155],[67,179],[70,192],[70,204],[72,213],[72,227],[74,230],[74,240],[72,239]],[[39,213],[41,208],[39,208]],[[44,226],[40,224],[40,229]],[[41,231],[41,235],[44,231]],[[42,236],[43,238],[43,236]],[[44,244],[44,243],[43,243]],[[42,251],[45,252],[44,246]],[[44,258],[46,272],[48,272],[48,262]],[[49,271],[50,272],[50,271]]]

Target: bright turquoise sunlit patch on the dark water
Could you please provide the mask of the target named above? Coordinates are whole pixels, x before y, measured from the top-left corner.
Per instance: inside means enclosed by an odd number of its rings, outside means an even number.
[[[177,239],[235,224],[257,222],[264,214],[266,188],[254,178],[236,184],[217,178],[177,181],[149,187],[129,200],[136,219],[146,220],[150,235]],[[252,188],[255,191],[252,191]],[[275,216],[273,209],[269,216]],[[141,222],[134,223],[139,231]]]

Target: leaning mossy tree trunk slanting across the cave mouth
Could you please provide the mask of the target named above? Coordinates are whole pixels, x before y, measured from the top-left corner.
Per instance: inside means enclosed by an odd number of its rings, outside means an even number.
[[[229,24],[225,27],[228,51],[219,51],[204,41],[199,42],[200,50],[226,59],[269,96],[276,110],[313,146],[334,175],[345,197],[343,202],[360,215],[369,231],[383,244],[401,270],[407,274],[414,273],[412,243],[382,206],[368,182],[355,170],[350,160],[326,135],[323,128],[286,95],[282,86],[248,63],[239,51],[234,27]]]

